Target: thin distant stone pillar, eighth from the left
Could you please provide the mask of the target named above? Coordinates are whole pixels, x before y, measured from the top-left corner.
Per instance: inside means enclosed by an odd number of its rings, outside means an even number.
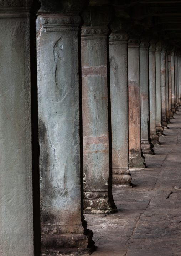
[[[155,67],[156,67],[156,131],[162,134],[164,128],[161,124],[161,42],[156,44]]]

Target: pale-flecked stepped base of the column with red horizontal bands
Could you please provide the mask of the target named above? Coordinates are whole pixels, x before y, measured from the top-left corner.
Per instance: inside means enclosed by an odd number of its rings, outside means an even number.
[[[112,213],[108,191],[84,191],[84,213]]]

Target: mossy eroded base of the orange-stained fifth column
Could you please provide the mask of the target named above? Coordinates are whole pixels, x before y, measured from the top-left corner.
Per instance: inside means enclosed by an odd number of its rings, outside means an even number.
[[[146,164],[144,163],[145,157],[141,156],[141,152],[131,152],[129,153],[128,166],[129,168],[145,168]]]

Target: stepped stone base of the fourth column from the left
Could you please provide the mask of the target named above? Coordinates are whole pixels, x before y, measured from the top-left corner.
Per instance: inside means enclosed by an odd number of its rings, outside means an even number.
[[[131,174],[128,168],[113,168],[112,185],[115,186],[130,186]]]

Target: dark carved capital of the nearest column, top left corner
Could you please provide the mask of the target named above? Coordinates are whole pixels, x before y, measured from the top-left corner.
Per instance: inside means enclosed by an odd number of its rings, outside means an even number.
[[[28,17],[32,0],[0,1],[0,18]]]

